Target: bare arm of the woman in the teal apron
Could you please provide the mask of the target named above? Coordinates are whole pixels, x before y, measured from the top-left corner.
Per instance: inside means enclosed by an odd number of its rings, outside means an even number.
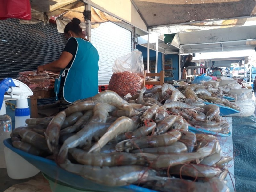
[[[60,71],[67,67],[68,63],[72,60],[73,55],[69,52],[63,51],[60,55],[60,58],[52,63],[46,65],[38,66],[37,73],[49,70],[49,71]]]

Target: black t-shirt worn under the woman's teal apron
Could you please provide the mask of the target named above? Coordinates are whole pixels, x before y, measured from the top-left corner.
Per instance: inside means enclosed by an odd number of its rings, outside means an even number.
[[[85,39],[84,39],[85,40]],[[88,41],[88,40],[85,40],[85,41]],[[76,51],[77,51],[77,47],[78,47],[78,43],[76,41],[75,38],[71,37],[65,48],[63,49],[63,51],[66,51],[66,52],[69,52],[73,55],[71,61],[68,63],[68,65],[66,66],[66,69],[69,69],[73,63],[73,60],[76,56]],[[61,75],[61,74],[60,74]],[[60,81],[60,92],[58,94],[58,98],[60,100],[60,98],[63,96],[63,87],[64,87],[64,82],[65,82],[65,79],[66,79],[66,76],[67,76],[67,71],[65,71],[65,76],[64,77],[61,77],[61,81]]]

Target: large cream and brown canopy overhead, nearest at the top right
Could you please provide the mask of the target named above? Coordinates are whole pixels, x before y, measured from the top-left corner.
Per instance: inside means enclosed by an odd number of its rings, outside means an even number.
[[[149,28],[256,15],[255,0],[83,0],[147,31]]]

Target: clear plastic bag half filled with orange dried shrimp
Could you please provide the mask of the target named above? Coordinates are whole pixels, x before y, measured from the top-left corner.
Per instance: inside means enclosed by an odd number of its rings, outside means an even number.
[[[108,90],[124,97],[134,95],[144,83],[144,65],[142,52],[133,51],[115,60]]]

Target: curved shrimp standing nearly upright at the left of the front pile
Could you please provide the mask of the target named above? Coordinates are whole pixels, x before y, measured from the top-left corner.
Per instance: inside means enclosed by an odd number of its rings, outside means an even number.
[[[65,111],[59,112],[46,128],[44,133],[48,148],[54,154],[58,151],[60,129],[66,118]]]

